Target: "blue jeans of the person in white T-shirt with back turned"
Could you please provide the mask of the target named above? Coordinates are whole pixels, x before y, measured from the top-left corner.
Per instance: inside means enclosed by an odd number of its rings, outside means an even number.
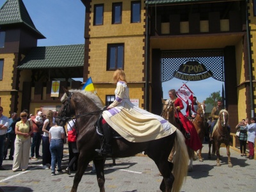
[[[55,173],[55,164],[57,159],[58,171],[61,171],[61,156],[63,152],[63,141],[62,140],[51,140],[50,151],[52,155],[52,173]]]

